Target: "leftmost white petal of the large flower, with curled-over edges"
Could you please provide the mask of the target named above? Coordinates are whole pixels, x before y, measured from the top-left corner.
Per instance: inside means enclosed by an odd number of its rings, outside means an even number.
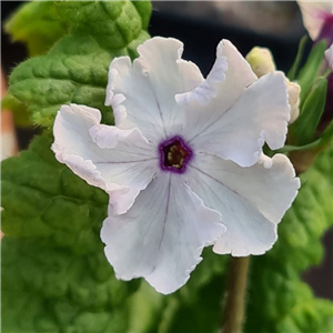
[[[63,105],[54,121],[52,150],[89,184],[110,194],[113,213],[124,213],[158,170],[151,143],[138,129],[100,124],[101,113],[84,105]]]

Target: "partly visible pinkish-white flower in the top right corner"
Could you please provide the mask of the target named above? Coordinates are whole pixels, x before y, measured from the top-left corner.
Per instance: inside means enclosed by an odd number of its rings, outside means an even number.
[[[303,23],[313,41],[326,39],[333,43],[333,1],[297,0]]]

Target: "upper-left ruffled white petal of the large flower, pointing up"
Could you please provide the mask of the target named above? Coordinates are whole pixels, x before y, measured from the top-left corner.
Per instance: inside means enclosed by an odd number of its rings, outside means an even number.
[[[203,77],[194,63],[181,59],[183,43],[179,40],[155,37],[138,52],[133,64],[129,57],[111,62],[105,104],[112,105],[117,127],[137,127],[157,141],[175,130],[175,94],[194,89]]]

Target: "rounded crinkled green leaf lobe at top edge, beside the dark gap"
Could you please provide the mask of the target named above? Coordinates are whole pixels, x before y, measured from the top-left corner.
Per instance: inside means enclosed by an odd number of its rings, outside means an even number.
[[[150,1],[141,0],[54,0],[59,14],[77,33],[92,36],[101,49],[127,48],[147,30]],[[140,3],[141,2],[141,3]]]

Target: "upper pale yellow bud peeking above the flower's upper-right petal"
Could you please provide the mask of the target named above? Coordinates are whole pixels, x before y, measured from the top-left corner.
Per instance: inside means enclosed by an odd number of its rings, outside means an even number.
[[[273,56],[269,49],[255,47],[248,53],[246,60],[258,78],[276,70]]]

